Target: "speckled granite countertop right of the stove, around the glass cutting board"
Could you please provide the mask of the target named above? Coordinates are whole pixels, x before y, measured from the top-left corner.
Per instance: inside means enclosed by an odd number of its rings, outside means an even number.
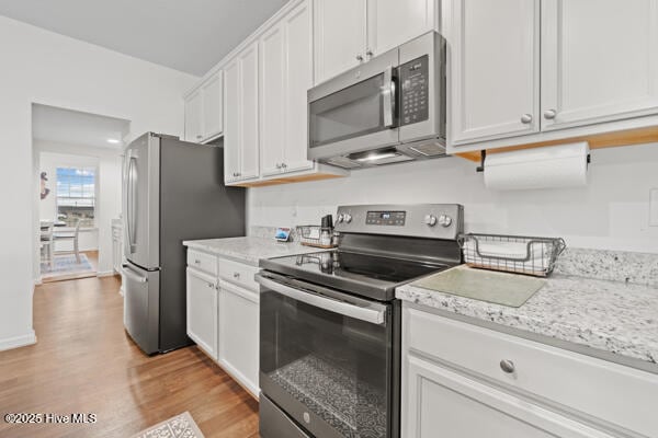
[[[654,262],[653,262],[654,263]],[[405,285],[397,298],[658,364],[658,286],[556,273],[520,308],[477,301]]]

